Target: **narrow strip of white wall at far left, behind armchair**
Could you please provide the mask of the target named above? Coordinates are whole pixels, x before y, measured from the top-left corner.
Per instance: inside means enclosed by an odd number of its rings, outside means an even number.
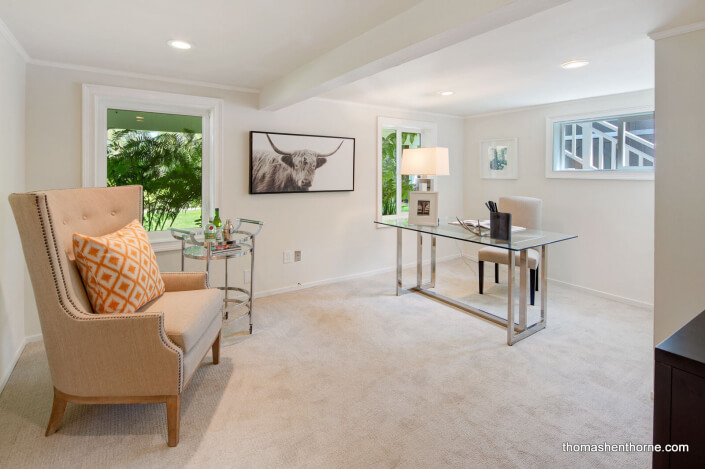
[[[25,337],[24,257],[7,201],[24,190],[25,73],[24,58],[0,34],[0,390]]]

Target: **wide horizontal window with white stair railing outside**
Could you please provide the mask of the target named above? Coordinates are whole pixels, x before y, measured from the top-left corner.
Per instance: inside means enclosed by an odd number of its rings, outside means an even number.
[[[654,114],[549,118],[548,177],[653,179]]]

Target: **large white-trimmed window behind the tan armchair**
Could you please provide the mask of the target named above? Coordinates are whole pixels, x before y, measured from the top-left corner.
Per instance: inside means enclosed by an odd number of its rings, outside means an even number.
[[[168,228],[200,226],[220,192],[220,115],[213,98],[83,86],[83,186],[140,184],[156,251]]]

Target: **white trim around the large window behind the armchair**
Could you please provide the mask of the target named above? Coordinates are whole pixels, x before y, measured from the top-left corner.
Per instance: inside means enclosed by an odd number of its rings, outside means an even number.
[[[201,116],[203,119],[203,213],[213,214],[222,186],[223,100],[184,94],[83,85],[83,187],[107,185],[108,109]],[[155,251],[181,248],[168,230],[149,233]]]

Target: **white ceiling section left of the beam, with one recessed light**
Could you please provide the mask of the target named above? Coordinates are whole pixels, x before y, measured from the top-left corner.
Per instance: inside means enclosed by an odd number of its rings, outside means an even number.
[[[0,0],[0,18],[35,60],[258,89],[419,1]]]

